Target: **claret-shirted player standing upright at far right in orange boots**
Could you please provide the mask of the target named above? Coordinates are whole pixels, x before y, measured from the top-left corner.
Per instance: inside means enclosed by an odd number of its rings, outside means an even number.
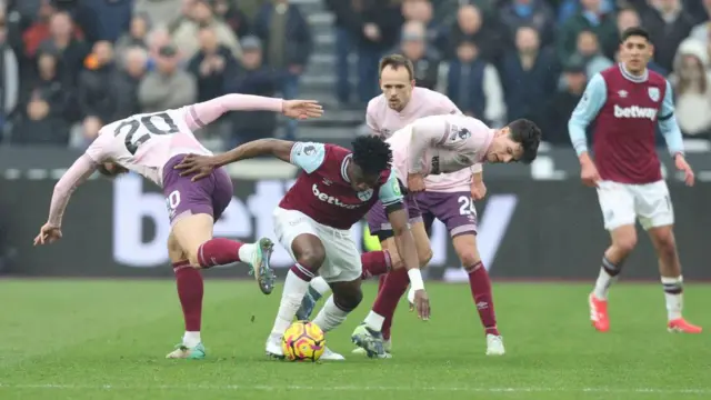
[[[637,243],[635,218],[648,231],[659,257],[667,328],[674,332],[701,332],[700,327],[687,322],[681,314],[682,277],[673,234],[674,211],[654,151],[658,122],[688,186],[693,184],[694,176],[684,159],[671,86],[647,68],[653,51],[644,29],[625,30],[620,44],[623,61],[592,77],[568,123],[580,158],[580,177],[583,183],[597,188],[604,228],[612,240],[589,296],[590,319],[600,332],[610,329],[610,286]],[[585,129],[593,121],[594,161],[585,139]]]

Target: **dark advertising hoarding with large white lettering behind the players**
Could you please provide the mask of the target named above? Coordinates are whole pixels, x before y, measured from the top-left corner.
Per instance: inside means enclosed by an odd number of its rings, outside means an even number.
[[[236,180],[234,197],[216,236],[251,241],[273,239],[272,210],[292,180]],[[116,181],[93,179],[72,197],[61,242],[32,248],[47,218],[53,179],[0,180],[0,249],[4,273],[31,277],[170,277],[166,239],[166,200],[137,176]],[[677,240],[688,281],[710,279],[708,268],[711,183],[685,188],[669,182],[677,213]],[[593,278],[608,246],[594,190],[577,179],[535,181],[502,178],[488,181],[489,194],[477,203],[479,248],[493,277],[507,279]],[[353,227],[363,246],[364,223]],[[657,260],[640,231],[638,251],[625,266],[625,278],[658,279]],[[431,236],[434,257],[428,276],[449,281],[465,279],[443,224]],[[9,260],[8,260],[9,259]],[[291,264],[279,248],[273,264],[286,274]],[[212,277],[244,277],[247,268],[214,268]]]

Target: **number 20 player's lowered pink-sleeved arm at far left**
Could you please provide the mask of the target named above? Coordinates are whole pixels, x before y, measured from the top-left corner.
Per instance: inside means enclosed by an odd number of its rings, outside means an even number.
[[[49,218],[40,229],[40,233],[34,238],[34,246],[52,243],[61,239],[62,217],[69,203],[69,198],[83,181],[91,177],[97,168],[97,162],[89,156],[82,154],[54,184],[54,192],[49,207]]]

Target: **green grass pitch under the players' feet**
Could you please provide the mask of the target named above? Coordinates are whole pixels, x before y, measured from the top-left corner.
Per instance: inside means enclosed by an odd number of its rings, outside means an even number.
[[[500,283],[508,353],[484,356],[465,284],[428,283],[432,319],[400,304],[391,360],[351,354],[350,333],[375,287],[328,344],[347,361],[268,361],[264,340],[281,296],[253,282],[206,281],[203,361],[166,360],[180,341],[174,283],[0,280],[0,399],[710,399],[707,333],[665,330],[659,284],[619,284],[611,331],[588,321],[590,284]],[[707,286],[690,284],[687,317],[711,328]],[[252,321],[252,316],[254,317]]]

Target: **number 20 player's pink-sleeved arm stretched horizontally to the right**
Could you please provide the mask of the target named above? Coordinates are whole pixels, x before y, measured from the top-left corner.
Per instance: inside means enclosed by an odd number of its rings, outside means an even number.
[[[199,129],[229,111],[273,111],[294,119],[319,118],[323,114],[323,108],[316,100],[282,100],[232,93],[188,106],[186,123],[190,129]]]

